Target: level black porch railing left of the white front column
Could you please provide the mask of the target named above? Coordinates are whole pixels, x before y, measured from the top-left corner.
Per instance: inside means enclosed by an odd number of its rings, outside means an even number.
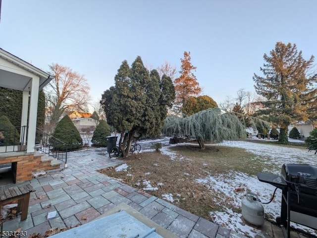
[[[0,126],[0,153],[26,151],[27,126]]]

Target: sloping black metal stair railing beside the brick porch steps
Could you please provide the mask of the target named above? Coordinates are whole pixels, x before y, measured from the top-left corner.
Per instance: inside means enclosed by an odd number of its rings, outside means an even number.
[[[67,144],[39,128],[36,128],[35,148],[53,158],[67,163]]]

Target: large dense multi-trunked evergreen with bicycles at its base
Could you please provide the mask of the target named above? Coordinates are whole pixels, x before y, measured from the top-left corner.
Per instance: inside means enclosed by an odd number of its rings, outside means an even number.
[[[150,74],[140,56],[131,68],[123,61],[114,82],[102,95],[101,104],[108,124],[121,132],[119,146],[125,157],[135,134],[159,133],[166,106],[171,105],[175,95],[171,79],[166,76],[159,79],[156,70]]]

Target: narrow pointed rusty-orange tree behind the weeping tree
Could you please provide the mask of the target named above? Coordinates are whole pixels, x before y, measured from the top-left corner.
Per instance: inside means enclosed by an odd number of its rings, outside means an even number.
[[[184,52],[184,58],[181,59],[180,77],[174,80],[175,86],[175,104],[183,105],[185,100],[189,97],[197,97],[202,89],[197,82],[196,76],[192,73],[196,71],[196,67],[190,62],[190,52]]]

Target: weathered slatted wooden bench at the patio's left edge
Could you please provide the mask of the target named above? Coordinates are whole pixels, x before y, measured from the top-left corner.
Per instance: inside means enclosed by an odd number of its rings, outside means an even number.
[[[30,193],[35,192],[30,184],[0,188],[0,211],[2,206],[12,201],[18,201],[17,212],[21,213],[21,221],[28,216]]]

